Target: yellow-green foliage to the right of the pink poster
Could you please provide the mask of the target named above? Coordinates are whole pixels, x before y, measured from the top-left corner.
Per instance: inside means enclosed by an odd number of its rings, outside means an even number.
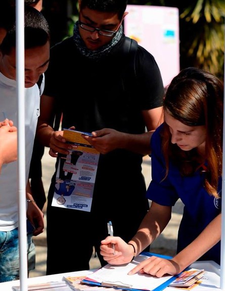
[[[187,39],[181,37],[182,52],[190,58],[192,65],[219,77],[223,76],[224,67],[224,16],[223,0],[198,0],[180,15],[187,23],[181,27],[188,26],[189,32]]]

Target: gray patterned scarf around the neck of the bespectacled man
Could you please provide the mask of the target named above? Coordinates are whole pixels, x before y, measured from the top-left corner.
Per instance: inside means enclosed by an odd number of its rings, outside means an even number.
[[[80,51],[81,55],[93,60],[99,60],[101,57],[107,55],[112,50],[112,48],[118,43],[122,35],[123,35],[123,27],[122,25],[120,25],[120,28],[118,29],[118,31],[116,32],[115,36],[112,38],[110,43],[99,48],[96,51],[91,51],[86,48],[83,40],[80,37],[78,21],[74,24],[74,29],[73,29],[73,40],[77,49]]]

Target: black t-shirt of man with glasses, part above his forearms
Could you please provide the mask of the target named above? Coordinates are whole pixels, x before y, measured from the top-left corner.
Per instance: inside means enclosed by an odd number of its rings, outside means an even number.
[[[82,56],[72,37],[51,49],[44,95],[55,97],[68,113],[64,114],[63,127],[73,125],[86,132],[102,128],[144,132],[141,110],[162,105],[161,74],[154,57],[139,46],[137,78],[128,80],[132,74],[127,72],[130,66],[121,54],[122,43],[123,38],[99,61]]]

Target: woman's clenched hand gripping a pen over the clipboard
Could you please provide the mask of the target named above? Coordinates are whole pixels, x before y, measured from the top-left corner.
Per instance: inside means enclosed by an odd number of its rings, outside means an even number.
[[[112,244],[115,246],[115,256],[113,255]],[[129,263],[133,258],[133,247],[127,244],[118,236],[107,236],[101,241],[100,254],[103,259],[111,265],[121,265]]]

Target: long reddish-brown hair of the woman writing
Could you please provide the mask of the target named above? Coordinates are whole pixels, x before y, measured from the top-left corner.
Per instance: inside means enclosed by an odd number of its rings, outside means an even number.
[[[203,161],[207,162],[207,174],[204,184],[208,193],[217,196],[218,177],[222,173],[223,82],[205,70],[186,68],[168,86],[163,109],[187,126],[205,126]],[[193,175],[201,163],[196,149],[183,151],[172,144],[166,123],[162,140],[166,175],[169,171],[169,159],[179,167],[183,176]]]

